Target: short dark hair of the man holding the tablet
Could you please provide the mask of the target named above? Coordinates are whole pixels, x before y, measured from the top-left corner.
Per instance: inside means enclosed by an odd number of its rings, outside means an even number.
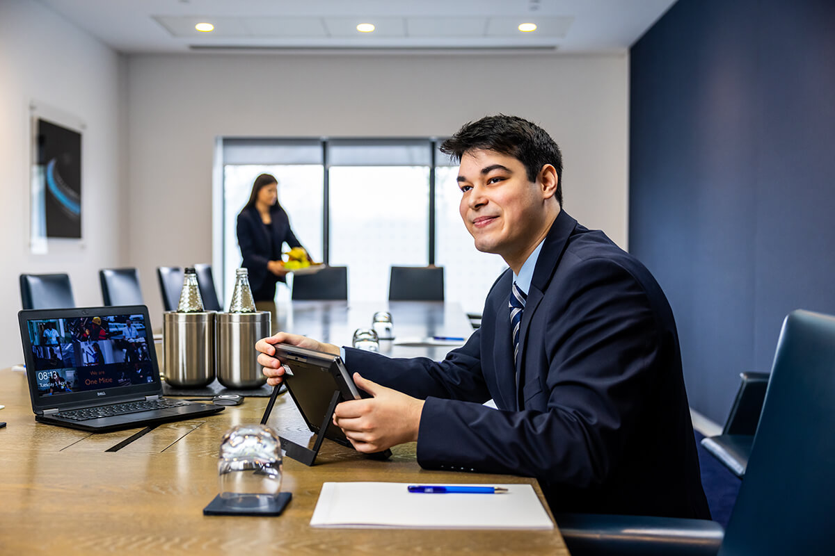
[[[550,164],[557,170],[556,198],[563,205],[563,155],[554,139],[535,123],[517,116],[486,116],[478,122],[465,123],[458,133],[441,144],[441,152],[456,162],[475,149],[495,151],[516,158],[524,165],[531,182],[539,170]]]

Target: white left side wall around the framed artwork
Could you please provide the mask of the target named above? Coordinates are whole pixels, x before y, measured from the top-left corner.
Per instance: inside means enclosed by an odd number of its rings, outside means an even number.
[[[67,272],[78,305],[100,305],[99,268],[119,249],[119,56],[32,0],[0,2],[0,368],[23,363],[17,313],[20,273]],[[78,242],[29,252],[29,164],[34,101],[86,125],[82,233]]]

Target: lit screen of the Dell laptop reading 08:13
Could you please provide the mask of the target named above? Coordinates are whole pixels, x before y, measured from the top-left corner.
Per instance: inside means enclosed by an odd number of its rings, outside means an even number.
[[[34,318],[27,320],[27,330],[33,398],[104,395],[109,388],[154,382],[154,344],[142,313]]]

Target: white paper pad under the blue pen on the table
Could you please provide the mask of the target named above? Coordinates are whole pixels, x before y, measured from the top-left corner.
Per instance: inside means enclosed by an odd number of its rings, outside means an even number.
[[[493,484],[508,488],[496,494],[410,493],[409,484],[324,483],[311,527],[554,528],[529,484]]]

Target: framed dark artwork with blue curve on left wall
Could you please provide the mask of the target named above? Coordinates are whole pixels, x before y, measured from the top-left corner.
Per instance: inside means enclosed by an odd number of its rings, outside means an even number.
[[[46,253],[48,240],[81,240],[83,124],[32,106],[30,248]]]

